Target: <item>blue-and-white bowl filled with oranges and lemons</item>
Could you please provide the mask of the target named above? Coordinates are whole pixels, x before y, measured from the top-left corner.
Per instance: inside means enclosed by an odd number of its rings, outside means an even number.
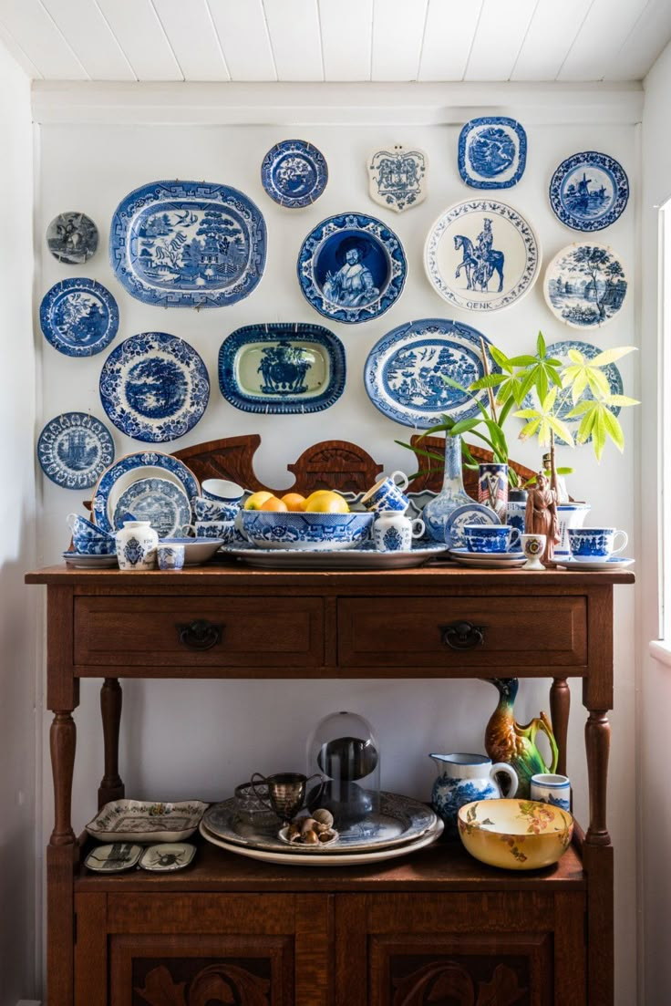
[[[242,530],[260,548],[354,548],[370,535],[372,513],[278,513],[242,510]]]

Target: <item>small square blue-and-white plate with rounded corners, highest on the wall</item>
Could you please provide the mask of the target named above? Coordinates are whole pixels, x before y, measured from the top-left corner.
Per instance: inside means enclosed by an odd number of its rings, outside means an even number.
[[[526,133],[514,119],[471,119],[459,134],[459,173],[472,188],[511,188],[525,165]]]

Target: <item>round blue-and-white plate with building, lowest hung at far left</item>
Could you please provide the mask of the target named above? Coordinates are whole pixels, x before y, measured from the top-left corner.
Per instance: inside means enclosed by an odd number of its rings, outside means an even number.
[[[37,441],[42,471],[63,489],[95,486],[114,454],[110,431],[89,412],[61,412],[46,424]]]

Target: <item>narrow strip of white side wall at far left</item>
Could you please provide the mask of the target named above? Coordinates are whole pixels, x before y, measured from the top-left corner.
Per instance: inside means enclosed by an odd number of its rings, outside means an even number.
[[[35,981],[35,351],[30,86],[0,48],[0,1004]],[[39,852],[41,856],[41,851]]]

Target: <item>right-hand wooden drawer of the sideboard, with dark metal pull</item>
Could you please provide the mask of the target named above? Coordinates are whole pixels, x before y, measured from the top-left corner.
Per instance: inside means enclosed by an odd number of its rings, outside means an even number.
[[[492,676],[503,667],[584,665],[586,656],[584,597],[338,602],[341,667],[472,666],[485,667]]]

